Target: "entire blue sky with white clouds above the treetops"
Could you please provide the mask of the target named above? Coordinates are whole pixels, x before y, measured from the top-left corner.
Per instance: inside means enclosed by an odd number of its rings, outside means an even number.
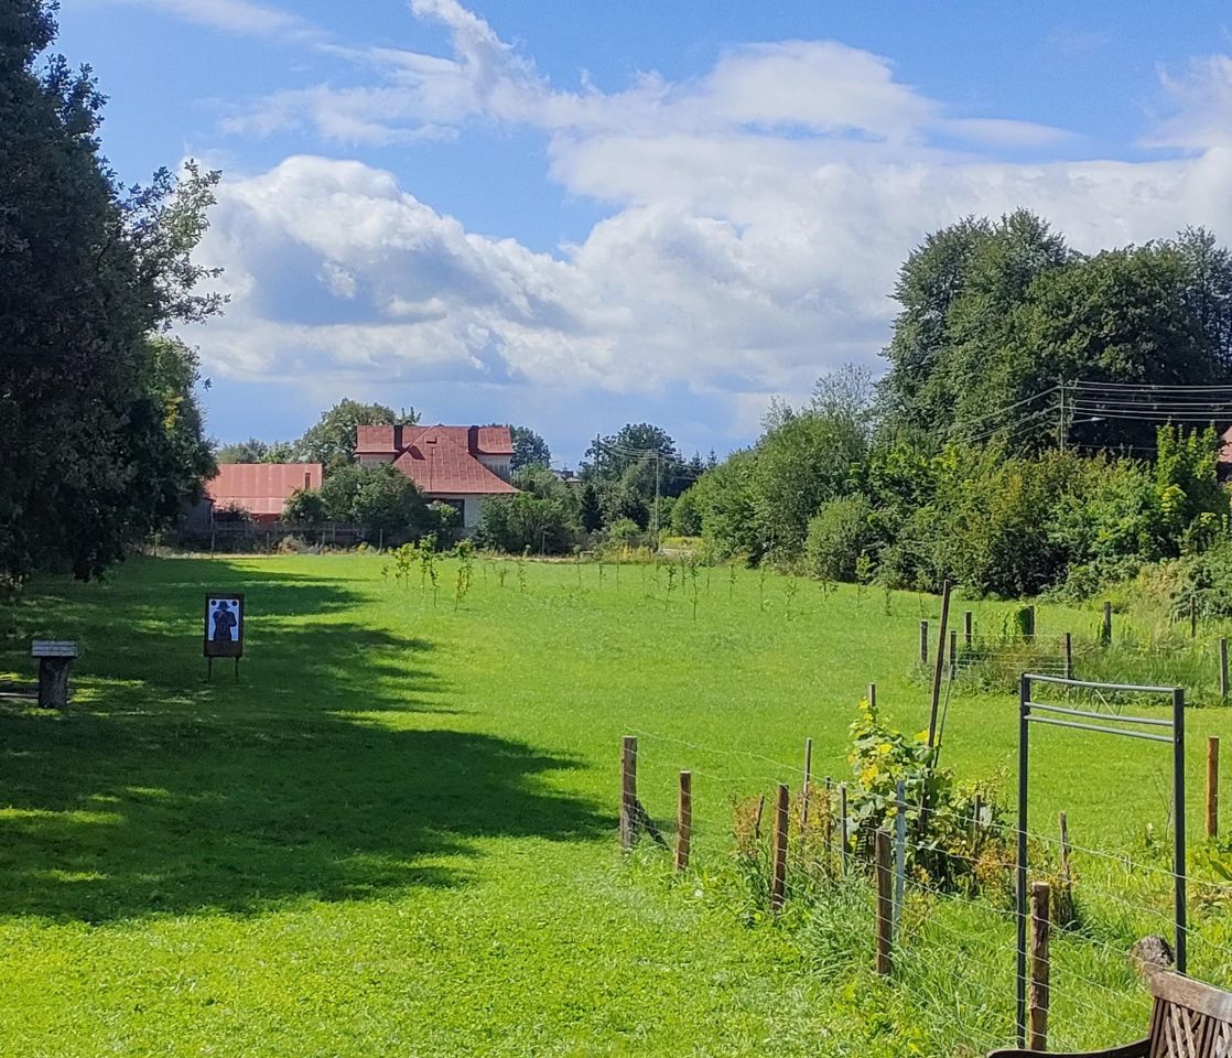
[[[878,368],[903,256],[1027,206],[1076,246],[1232,230],[1214,2],[64,0],[126,180],[224,171],[186,334],[224,440],[340,397],[747,443]]]

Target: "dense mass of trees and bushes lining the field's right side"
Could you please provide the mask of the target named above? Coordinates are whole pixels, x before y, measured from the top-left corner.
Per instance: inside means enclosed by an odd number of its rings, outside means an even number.
[[[717,552],[1084,594],[1227,535],[1232,260],[1209,233],[1083,256],[1030,213],[966,219],[910,255],[896,294],[880,383],[848,368],[808,406],[772,406],[756,445],[681,495]]]

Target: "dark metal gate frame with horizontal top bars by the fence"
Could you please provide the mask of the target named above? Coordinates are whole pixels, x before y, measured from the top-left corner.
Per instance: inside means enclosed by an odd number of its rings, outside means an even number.
[[[1067,706],[1053,706],[1031,701],[1034,684],[1050,684],[1062,687],[1076,687],[1094,691],[1125,691],[1140,695],[1168,695],[1172,698],[1172,719],[1154,717],[1127,717],[1124,714],[1096,713],[1089,709],[1074,709]],[[1026,1046],[1026,828],[1027,828],[1027,766],[1029,737],[1031,724],[1048,724],[1058,728],[1074,728],[1099,734],[1124,735],[1125,738],[1147,739],[1172,744],[1172,789],[1173,789],[1173,882],[1175,897],[1175,956],[1177,971],[1185,972],[1185,691],[1183,687],[1142,687],[1133,684],[1099,684],[1085,680],[1069,680],[1061,676],[1042,676],[1024,672],[1019,681],[1019,723],[1018,723],[1018,874],[1015,884],[1015,910],[1018,914],[1018,1005],[1015,1021],[1019,1047]],[[1048,713],[1040,717],[1034,713]],[[1064,719],[1056,719],[1056,717]],[[1077,719],[1068,719],[1068,718]],[[1106,727],[1089,721],[1108,721],[1117,724],[1141,724],[1149,728],[1167,728],[1168,734],[1131,728]]]

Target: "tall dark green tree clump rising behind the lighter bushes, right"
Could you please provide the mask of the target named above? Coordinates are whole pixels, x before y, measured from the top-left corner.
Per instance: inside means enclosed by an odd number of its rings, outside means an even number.
[[[1232,372],[1232,257],[1201,229],[1084,256],[1026,211],[968,218],[910,254],[894,296],[881,403],[899,437],[1015,451],[1062,437],[1149,445],[1167,408],[1063,406],[1058,383],[1194,384]]]

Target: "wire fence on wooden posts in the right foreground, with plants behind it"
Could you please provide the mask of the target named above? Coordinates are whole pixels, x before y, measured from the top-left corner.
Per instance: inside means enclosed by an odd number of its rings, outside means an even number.
[[[681,899],[790,924],[818,972],[873,984],[877,863],[873,833],[897,839],[887,1016],[934,1053],[983,1054],[1016,1036],[1015,824],[993,804],[973,810],[878,803],[859,777],[813,775],[809,764],[637,730],[638,846],[673,861]],[[807,753],[807,750],[806,750]],[[681,780],[689,772],[687,863],[679,862]],[[780,785],[788,789],[785,868]],[[903,825],[899,826],[899,814]],[[897,831],[897,834],[896,834]],[[1141,963],[1167,958],[1174,873],[1158,850],[1105,849],[1061,830],[1031,830],[1032,882],[1050,884],[1048,1047],[1079,1051],[1146,1035],[1151,998]],[[1232,985],[1232,882],[1189,868],[1189,973]],[[1232,874],[1228,876],[1232,878]],[[781,898],[776,904],[776,884]],[[1162,953],[1162,955],[1161,955]]]

